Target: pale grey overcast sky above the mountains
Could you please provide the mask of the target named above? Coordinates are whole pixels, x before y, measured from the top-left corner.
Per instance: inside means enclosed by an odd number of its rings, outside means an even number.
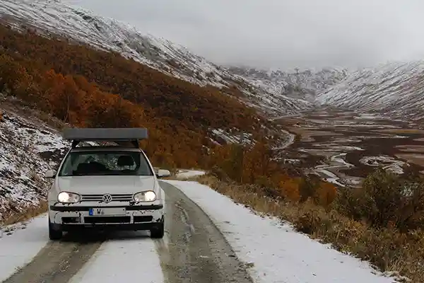
[[[424,59],[423,0],[62,0],[217,64],[300,69]]]

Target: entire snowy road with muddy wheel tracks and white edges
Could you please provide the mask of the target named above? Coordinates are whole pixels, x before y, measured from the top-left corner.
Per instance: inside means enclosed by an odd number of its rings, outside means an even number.
[[[163,240],[126,232],[51,243],[47,219],[39,216],[3,232],[0,280],[120,282],[143,276],[143,282],[152,283],[393,282],[367,262],[260,216],[206,185],[181,180],[162,185],[168,204]]]

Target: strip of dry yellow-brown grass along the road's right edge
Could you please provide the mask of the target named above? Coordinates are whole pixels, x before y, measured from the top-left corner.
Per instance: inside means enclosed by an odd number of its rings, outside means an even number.
[[[262,197],[254,185],[224,183],[211,175],[192,179],[208,185],[235,202],[257,212],[278,216],[293,224],[296,230],[322,243],[331,243],[343,253],[368,260],[387,274],[400,275],[405,282],[424,282],[424,232],[400,233],[393,227],[375,229],[365,221],[354,221],[335,209],[324,209],[312,202],[295,204]],[[401,278],[401,277],[399,277]]]

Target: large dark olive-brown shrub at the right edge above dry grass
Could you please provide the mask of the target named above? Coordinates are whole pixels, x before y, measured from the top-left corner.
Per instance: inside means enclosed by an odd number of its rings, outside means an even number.
[[[363,187],[341,189],[336,201],[341,214],[371,226],[401,231],[424,228],[424,178],[405,177],[379,169]]]

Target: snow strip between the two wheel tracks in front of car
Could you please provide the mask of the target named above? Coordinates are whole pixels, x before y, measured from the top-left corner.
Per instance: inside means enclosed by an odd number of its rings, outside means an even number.
[[[145,283],[164,282],[155,243],[144,231],[120,232],[119,236],[102,243],[69,283],[137,282],[140,279]]]

